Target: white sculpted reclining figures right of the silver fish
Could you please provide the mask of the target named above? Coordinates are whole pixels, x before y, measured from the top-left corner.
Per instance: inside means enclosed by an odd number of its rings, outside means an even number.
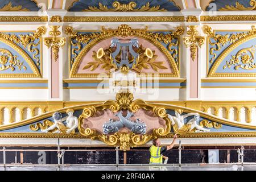
[[[204,129],[204,127],[201,127],[199,125],[199,118],[200,118],[199,113],[188,113],[188,114],[184,114],[184,115],[181,115],[181,113],[183,113],[183,110],[175,109],[175,117],[168,114],[168,118],[171,120],[172,125],[177,125],[178,129],[181,129],[181,127],[183,127],[185,125],[184,118],[194,115],[194,118],[190,119],[186,123],[186,125],[191,125],[190,131],[192,131],[193,129],[196,129],[196,132],[199,132],[199,131],[209,132],[210,131],[208,129]]]

